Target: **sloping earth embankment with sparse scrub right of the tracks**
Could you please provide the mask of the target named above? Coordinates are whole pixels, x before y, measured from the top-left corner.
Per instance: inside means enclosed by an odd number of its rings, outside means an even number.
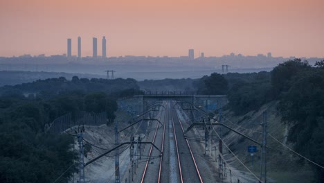
[[[244,115],[235,116],[230,110],[224,111],[223,123],[235,130],[246,134],[248,137],[256,139],[257,141],[262,141],[262,112],[267,111],[267,131],[269,133],[267,137],[267,176],[268,182],[314,182],[314,168],[309,166],[309,164],[300,164],[298,162],[300,157],[296,156],[290,150],[281,146],[278,141],[273,139],[278,139],[287,146],[293,148],[294,143],[287,142],[287,135],[290,125],[282,123],[282,116],[276,110],[276,105],[278,101],[272,101],[260,107],[260,110],[250,111]],[[253,129],[253,130],[251,130]],[[223,128],[224,142],[233,151],[237,157],[239,157],[248,168],[255,173],[255,175],[260,176],[260,146],[258,146],[258,152],[253,156],[253,165],[250,153],[247,152],[248,146],[255,146],[256,144],[241,137],[235,132],[231,132]],[[224,157],[228,160],[231,166],[234,166],[242,172],[246,172],[246,169],[237,162],[237,160],[228,152],[226,147],[224,147]]]

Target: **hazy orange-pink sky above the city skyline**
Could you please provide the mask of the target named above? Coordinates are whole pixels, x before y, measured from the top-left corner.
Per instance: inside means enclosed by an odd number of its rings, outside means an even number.
[[[323,0],[1,0],[0,56],[243,55],[324,58]]]

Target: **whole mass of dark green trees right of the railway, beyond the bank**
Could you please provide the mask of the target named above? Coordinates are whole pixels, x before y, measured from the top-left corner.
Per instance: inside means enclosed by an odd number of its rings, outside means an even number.
[[[210,92],[202,94],[222,93],[216,88],[226,85],[220,76],[217,77],[218,83],[211,76],[201,78],[206,90],[198,91]],[[324,164],[324,60],[316,62],[314,67],[300,59],[288,60],[270,73],[228,73],[224,78],[229,86],[229,109],[242,115],[258,110],[270,101],[279,101],[277,107],[282,121],[292,126],[288,140],[294,143],[294,149],[314,162]],[[206,80],[213,80],[214,88],[207,87]],[[324,182],[323,169],[315,168],[317,182]]]

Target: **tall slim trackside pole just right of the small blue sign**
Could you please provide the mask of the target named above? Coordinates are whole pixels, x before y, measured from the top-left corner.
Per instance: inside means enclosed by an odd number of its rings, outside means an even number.
[[[267,183],[267,111],[264,111],[262,122],[262,150],[261,150],[261,176],[260,180]]]

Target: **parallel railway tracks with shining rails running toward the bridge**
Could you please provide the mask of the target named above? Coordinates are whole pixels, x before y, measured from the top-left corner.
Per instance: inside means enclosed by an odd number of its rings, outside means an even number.
[[[163,155],[159,159],[159,167],[151,167],[149,164],[152,155],[151,146],[141,182],[204,182],[190,144],[182,135],[184,129],[177,111],[170,105],[167,106],[169,107],[165,110],[163,132],[159,131],[157,125],[152,140],[153,143],[161,143]],[[161,139],[161,142],[156,139]],[[150,167],[150,174],[158,171],[156,175],[147,176]]]

